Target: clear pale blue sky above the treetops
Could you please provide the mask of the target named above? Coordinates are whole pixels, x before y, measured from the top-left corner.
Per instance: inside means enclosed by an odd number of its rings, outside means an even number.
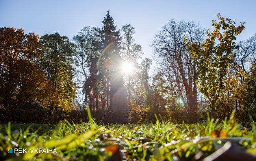
[[[135,42],[142,46],[142,57],[152,58],[149,44],[168,20],[193,20],[211,31],[211,20],[220,13],[237,24],[245,21],[238,42],[256,33],[255,6],[256,0],[0,0],[0,27],[22,28],[40,36],[58,32],[71,40],[85,26],[101,27],[110,10],[118,29],[125,24],[136,28]]]

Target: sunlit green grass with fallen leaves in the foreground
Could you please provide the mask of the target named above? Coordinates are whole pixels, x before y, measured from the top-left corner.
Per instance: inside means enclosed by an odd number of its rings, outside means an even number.
[[[0,160],[191,160],[206,157],[226,141],[256,156],[256,127],[224,121],[174,124],[7,124],[0,127]],[[8,154],[7,148],[56,148],[58,153]]]

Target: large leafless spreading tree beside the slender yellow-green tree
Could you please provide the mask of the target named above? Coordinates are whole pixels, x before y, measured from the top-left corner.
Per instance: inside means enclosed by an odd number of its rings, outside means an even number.
[[[154,56],[158,58],[159,70],[164,73],[167,83],[177,88],[178,95],[189,112],[197,112],[198,61],[192,59],[184,38],[189,44],[201,45],[204,34],[204,28],[195,22],[170,20],[151,44]],[[187,99],[187,103],[184,98]]]

